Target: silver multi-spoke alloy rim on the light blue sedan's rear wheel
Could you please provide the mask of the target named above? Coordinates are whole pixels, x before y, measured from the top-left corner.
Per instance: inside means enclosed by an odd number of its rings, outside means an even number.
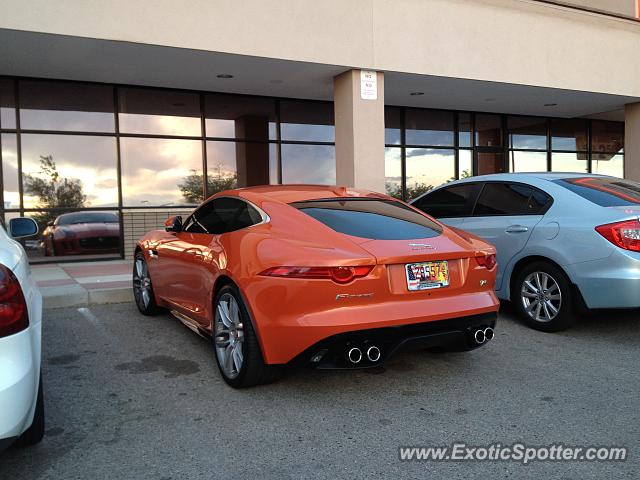
[[[522,283],[520,297],[524,311],[537,322],[550,322],[562,308],[558,282],[546,272],[533,272]]]

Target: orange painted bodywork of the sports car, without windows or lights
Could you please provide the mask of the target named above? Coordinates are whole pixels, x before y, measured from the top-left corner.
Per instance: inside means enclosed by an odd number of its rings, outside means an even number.
[[[495,254],[495,249],[479,238],[461,235],[430,217],[442,230],[430,238],[361,238],[340,233],[290,205],[319,199],[397,202],[391,197],[343,187],[277,185],[221,192],[208,201],[220,197],[243,199],[268,220],[220,235],[152,231],[140,239],[138,248],[147,259],[157,303],[188,317],[202,332],[212,329],[217,282],[224,278],[235,283],[268,364],[291,362],[339,334],[498,310],[496,268],[487,270],[474,258]],[[443,260],[448,262],[448,286],[408,290],[406,264]],[[346,284],[260,275],[283,266],[372,270]]]

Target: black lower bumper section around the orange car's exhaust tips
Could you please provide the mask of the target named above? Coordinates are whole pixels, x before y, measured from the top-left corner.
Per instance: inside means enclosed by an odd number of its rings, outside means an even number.
[[[383,364],[400,350],[429,347],[472,350],[486,343],[475,342],[474,333],[478,329],[495,328],[496,319],[497,313],[485,313],[450,320],[341,333],[312,345],[290,363],[319,369],[370,368]],[[377,349],[373,359],[370,359],[367,353],[371,348]],[[352,349],[357,349],[358,357],[361,357],[357,362],[349,360],[349,352]]]

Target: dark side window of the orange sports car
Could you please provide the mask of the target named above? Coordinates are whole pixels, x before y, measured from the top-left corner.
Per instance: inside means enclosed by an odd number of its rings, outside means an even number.
[[[187,220],[185,230],[191,233],[219,235],[260,223],[260,213],[237,198],[216,198],[198,208]]]

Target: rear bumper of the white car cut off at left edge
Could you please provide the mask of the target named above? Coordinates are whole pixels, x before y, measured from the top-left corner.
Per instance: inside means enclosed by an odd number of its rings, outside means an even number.
[[[0,339],[0,442],[20,436],[33,420],[40,375],[33,348],[40,323]],[[36,335],[32,335],[36,333]],[[7,439],[3,441],[3,439]]]

